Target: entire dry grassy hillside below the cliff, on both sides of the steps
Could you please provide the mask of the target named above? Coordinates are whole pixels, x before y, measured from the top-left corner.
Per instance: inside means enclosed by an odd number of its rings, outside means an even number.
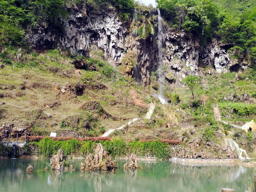
[[[0,93],[4,95],[0,106],[0,123],[14,123],[15,127],[28,127],[33,135],[49,135],[50,131],[73,130],[84,136],[98,136],[108,128],[118,128],[131,118],[141,120],[117,131],[114,138],[121,139],[180,139],[188,146],[199,139],[205,149],[207,142],[224,144],[221,133],[231,131],[231,137],[243,145],[253,156],[255,135],[249,135],[214,120],[212,104],[219,103],[223,119],[243,125],[256,118],[255,70],[243,72],[208,75],[207,69],[201,69],[202,83],[195,90],[197,106],[192,106],[191,92],[186,87],[173,88],[166,85],[166,93],[171,103],[161,105],[149,96],[144,88],[123,77],[118,69],[113,69],[104,62],[101,54],[95,58],[70,57],[58,50],[43,53],[8,49],[0,55],[5,65],[0,69]],[[76,69],[73,62],[85,60],[87,69]],[[89,67],[95,66],[97,71]],[[110,69],[110,75],[109,70]],[[112,71],[112,72],[111,72]],[[66,74],[66,75],[65,75]],[[74,92],[62,94],[63,86],[83,85],[83,94]],[[96,85],[105,85],[107,89],[96,89]],[[168,94],[171,93],[171,94]],[[174,94],[180,101],[174,99]],[[245,97],[246,96],[246,97]],[[200,104],[205,98],[206,105]],[[82,110],[83,103],[97,100],[101,107],[111,115],[126,117],[127,120],[113,120],[102,114],[100,109]],[[147,102],[156,102],[157,107],[151,120],[144,120]],[[59,104],[56,104],[59,103]],[[47,105],[53,104],[52,108]],[[42,114],[38,112],[42,110]],[[49,118],[48,115],[51,115]],[[81,123],[67,124],[73,117]],[[71,117],[71,120],[70,120]],[[68,120],[66,120],[69,118]],[[74,118],[73,118],[74,119]],[[65,121],[64,121],[65,120]],[[89,128],[83,127],[89,123]],[[213,156],[216,151],[208,149]]]

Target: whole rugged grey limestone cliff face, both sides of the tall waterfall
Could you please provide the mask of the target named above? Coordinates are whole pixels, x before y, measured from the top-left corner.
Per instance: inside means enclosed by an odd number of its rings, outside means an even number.
[[[102,7],[100,13],[90,7],[70,9],[62,20],[63,32],[55,32],[43,25],[28,29],[27,39],[33,47],[59,47],[73,54],[90,56],[92,49],[102,50],[104,58],[112,64],[121,64],[132,53],[136,66],[133,77],[145,86],[150,84],[150,72],[158,68],[157,11],[145,14],[154,32],[146,37],[132,34],[133,22],[124,23],[113,7]],[[138,21],[142,25],[142,21]],[[199,66],[211,65],[218,73],[227,72],[237,62],[230,61],[225,46],[213,39],[204,48],[199,39],[180,30],[163,27],[164,75],[169,83],[179,83],[188,74],[199,75]],[[246,65],[246,63],[245,63]],[[245,67],[243,65],[242,67]]]

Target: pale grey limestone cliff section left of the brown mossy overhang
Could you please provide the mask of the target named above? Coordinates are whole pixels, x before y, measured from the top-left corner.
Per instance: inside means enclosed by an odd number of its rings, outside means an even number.
[[[64,32],[37,26],[29,30],[27,38],[34,47],[60,47],[73,54],[89,56],[95,45],[104,51],[105,58],[119,61],[127,51],[128,27],[118,18],[114,8],[102,8],[94,13],[89,8],[71,9],[62,21]]]

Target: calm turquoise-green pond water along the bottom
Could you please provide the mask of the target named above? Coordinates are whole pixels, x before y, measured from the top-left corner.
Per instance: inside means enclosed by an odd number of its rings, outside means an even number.
[[[0,192],[245,192],[255,168],[239,165],[181,165],[171,162],[140,163],[144,168],[112,172],[44,171],[49,160],[0,160]],[[34,172],[26,173],[32,163]],[[122,167],[124,161],[119,161]]]

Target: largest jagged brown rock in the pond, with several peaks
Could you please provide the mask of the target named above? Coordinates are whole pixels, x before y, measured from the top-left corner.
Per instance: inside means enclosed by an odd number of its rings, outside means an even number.
[[[86,157],[86,170],[112,170],[117,168],[117,161],[109,157],[108,152],[104,150],[101,143],[99,143],[95,150],[95,155],[89,154]],[[82,163],[81,163],[82,168]]]

